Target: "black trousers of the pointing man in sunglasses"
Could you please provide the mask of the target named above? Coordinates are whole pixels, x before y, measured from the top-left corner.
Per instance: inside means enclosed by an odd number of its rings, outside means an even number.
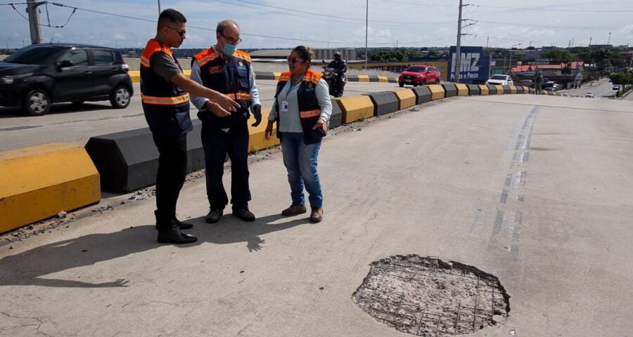
[[[176,218],[176,202],[187,174],[187,134],[167,136],[152,133],[152,137],[159,153],[156,216],[157,220],[171,220]]]

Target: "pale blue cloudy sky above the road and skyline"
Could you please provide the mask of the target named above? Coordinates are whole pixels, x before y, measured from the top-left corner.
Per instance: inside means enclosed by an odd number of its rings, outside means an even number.
[[[15,4],[14,10],[9,3]],[[25,0],[0,0],[0,48],[30,44]],[[40,6],[44,41],[142,48],[155,34],[158,0],[55,0]],[[369,2],[369,21],[366,7]],[[633,46],[633,1],[463,0],[464,46]],[[451,46],[459,0],[160,0],[187,18],[182,48],[215,43],[215,25],[236,20],[241,48]],[[73,9],[78,8],[74,14]],[[97,13],[102,12],[102,13]],[[114,14],[114,15],[110,15]],[[122,16],[115,16],[122,15]],[[70,20],[68,20],[70,18]],[[68,23],[65,23],[68,20]],[[367,30],[366,30],[367,24]],[[610,34],[610,36],[609,36]],[[518,45],[520,44],[520,45]]]

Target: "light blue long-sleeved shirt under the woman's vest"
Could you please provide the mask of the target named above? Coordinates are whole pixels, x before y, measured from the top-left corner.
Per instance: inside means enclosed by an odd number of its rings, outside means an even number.
[[[279,124],[279,131],[303,132],[301,118],[299,117],[299,100],[297,98],[299,86],[292,86],[288,93],[289,89],[290,81],[286,82],[286,86],[281,89],[281,92],[277,96],[277,104],[280,107],[281,102],[284,100],[288,102],[288,112],[279,112],[279,119],[283,120],[283,122]],[[321,108],[321,119],[328,124],[332,114],[332,101],[330,100],[330,88],[328,88],[328,83],[324,79],[320,79],[319,83],[316,84],[314,93],[316,93],[316,102],[319,103],[319,107]],[[275,120],[276,111],[276,107],[273,105],[268,115],[269,121]]]

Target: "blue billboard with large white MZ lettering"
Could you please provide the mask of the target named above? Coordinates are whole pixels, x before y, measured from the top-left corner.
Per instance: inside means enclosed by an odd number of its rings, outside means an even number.
[[[449,81],[455,80],[457,60],[456,46],[451,46],[449,59]],[[485,55],[483,47],[461,47],[459,56],[459,81],[472,83],[474,80],[488,79],[490,55]]]

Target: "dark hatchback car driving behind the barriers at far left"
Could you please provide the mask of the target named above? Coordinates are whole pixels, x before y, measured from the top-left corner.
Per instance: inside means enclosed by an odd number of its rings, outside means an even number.
[[[34,44],[0,61],[0,106],[41,116],[52,103],[110,100],[129,105],[129,67],[113,48],[82,44]]]

